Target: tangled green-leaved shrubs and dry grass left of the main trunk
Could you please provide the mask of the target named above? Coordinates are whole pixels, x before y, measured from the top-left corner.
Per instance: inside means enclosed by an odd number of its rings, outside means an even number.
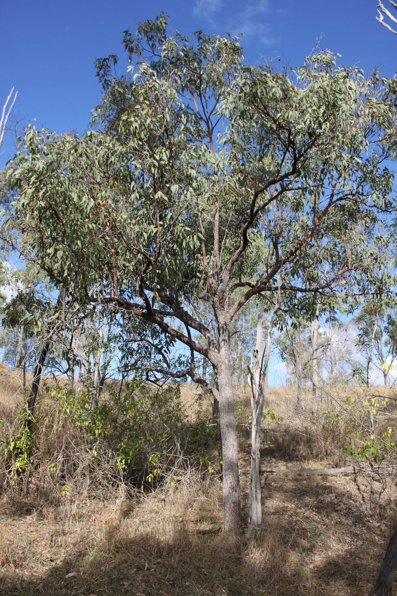
[[[16,430],[0,432],[4,484],[59,498],[118,483],[172,485],[191,468],[215,470],[211,422],[200,409],[193,420],[187,417],[179,386],[152,390],[134,379],[123,392],[117,389],[106,387],[99,400],[90,389],[55,387],[32,431],[23,428],[19,413]]]

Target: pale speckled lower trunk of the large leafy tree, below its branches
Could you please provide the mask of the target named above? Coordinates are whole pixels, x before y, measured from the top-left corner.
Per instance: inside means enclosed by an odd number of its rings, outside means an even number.
[[[241,501],[235,399],[230,370],[230,344],[226,332],[223,333],[223,337],[220,338],[220,360],[217,374],[223,461],[223,519],[224,529],[227,532],[236,530],[241,522]]]

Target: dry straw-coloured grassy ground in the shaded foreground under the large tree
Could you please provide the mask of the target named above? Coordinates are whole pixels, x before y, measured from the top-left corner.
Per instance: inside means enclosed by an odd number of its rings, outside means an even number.
[[[328,468],[339,463],[288,454],[276,433],[265,434],[262,465]],[[249,445],[243,437],[240,448],[245,468]],[[246,508],[248,474],[241,479]],[[4,498],[0,593],[370,594],[396,521],[389,489],[377,496],[376,513],[370,516],[368,480],[360,475],[263,474],[262,486],[263,529],[254,538],[196,532],[222,521],[219,477],[182,479],[167,491],[135,499],[117,490],[112,499],[65,498],[58,506]],[[379,493],[380,483],[375,488]]]

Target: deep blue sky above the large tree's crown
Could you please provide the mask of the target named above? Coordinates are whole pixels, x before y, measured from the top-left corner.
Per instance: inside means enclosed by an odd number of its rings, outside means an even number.
[[[242,45],[251,62],[271,56],[298,66],[322,35],[323,48],[339,52],[341,63],[358,62],[367,71],[379,66],[383,75],[392,76],[397,35],[376,21],[376,6],[377,0],[4,2],[1,105],[14,86],[21,126],[35,118],[39,128],[83,132],[100,99],[93,61],[108,54],[121,57],[123,30],[134,30],[137,21],[160,11],[170,15],[170,29],[186,35],[197,29],[244,33]],[[123,66],[121,60],[120,70]],[[0,165],[13,153],[8,134]]]

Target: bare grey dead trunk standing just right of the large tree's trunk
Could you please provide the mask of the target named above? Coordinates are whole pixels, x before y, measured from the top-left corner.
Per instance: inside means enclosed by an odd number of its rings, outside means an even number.
[[[252,358],[252,370],[249,369],[251,381],[251,473],[249,478],[248,523],[254,528],[262,524],[261,479],[260,479],[260,448],[261,421],[263,413],[264,393],[262,381],[263,358],[263,312],[258,314],[257,345]]]

